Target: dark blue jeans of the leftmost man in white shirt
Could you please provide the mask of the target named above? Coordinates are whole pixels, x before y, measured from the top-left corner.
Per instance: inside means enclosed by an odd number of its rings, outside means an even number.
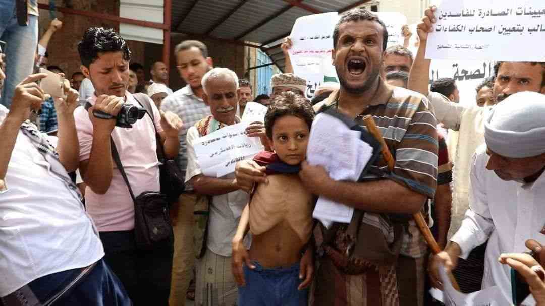
[[[123,285],[110,271],[104,260],[95,266],[81,280],[59,298],[56,296],[81,274],[82,269],[73,269],[41,277],[21,289],[2,298],[5,306],[44,305],[55,306],[131,306]],[[54,302],[53,302],[54,301]]]

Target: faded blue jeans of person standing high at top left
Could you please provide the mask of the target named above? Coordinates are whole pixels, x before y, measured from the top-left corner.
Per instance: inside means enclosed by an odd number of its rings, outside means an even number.
[[[16,11],[14,0],[0,0],[0,40],[7,44],[3,51],[6,78],[0,103],[8,108],[17,84],[33,72],[38,46],[38,16],[28,15],[28,26],[22,27],[17,23]]]

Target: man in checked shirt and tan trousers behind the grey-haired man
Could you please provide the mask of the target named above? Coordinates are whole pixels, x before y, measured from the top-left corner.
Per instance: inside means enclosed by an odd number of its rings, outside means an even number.
[[[178,138],[178,166],[185,175],[187,169],[187,130],[197,121],[209,116],[210,107],[202,99],[204,93],[201,79],[212,69],[212,59],[208,57],[208,49],[201,42],[186,40],[174,49],[176,64],[180,77],[187,84],[184,88],[168,95],[161,104],[163,111],[171,111],[180,117],[183,126]],[[174,230],[174,259],[172,264],[171,305],[184,305],[190,273],[193,267],[195,254],[193,251],[193,208],[197,201],[197,194],[189,184],[186,192],[181,194],[178,203],[172,206],[171,217]]]

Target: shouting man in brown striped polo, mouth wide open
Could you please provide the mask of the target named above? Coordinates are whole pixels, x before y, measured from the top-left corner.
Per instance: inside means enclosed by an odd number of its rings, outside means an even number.
[[[362,116],[372,115],[396,159],[395,169],[390,173],[385,164],[377,162],[363,181],[344,182],[334,181],[324,168],[304,162],[299,177],[314,194],[365,211],[366,215],[369,212],[386,216],[392,224],[401,223],[403,235],[393,238],[401,240],[401,250],[393,264],[364,272],[357,262],[340,267],[342,260],[324,255],[314,282],[315,306],[423,304],[428,250],[410,215],[420,211],[435,194],[437,120],[428,109],[426,97],[391,87],[380,77],[387,37],[384,23],[369,11],[356,8],[344,14],[333,33],[332,52],[341,88],[314,107],[317,111],[337,109],[360,124]],[[247,187],[253,182],[264,182],[262,171],[257,164],[240,162],[237,181]],[[325,242],[329,249],[347,253],[350,237],[346,229],[346,225],[341,225],[332,241]],[[359,235],[356,246],[372,248],[380,240],[392,242],[390,235],[363,236]]]

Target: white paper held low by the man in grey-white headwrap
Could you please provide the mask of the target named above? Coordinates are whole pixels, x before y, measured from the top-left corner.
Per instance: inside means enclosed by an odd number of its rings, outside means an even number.
[[[432,296],[445,304],[445,306],[508,306],[504,295],[501,294],[498,286],[489,287],[485,290],[464,294],[456,291],[447,277],[444,266],[439,266],[439,276],[443,282],[443,291],[432,289]]]

